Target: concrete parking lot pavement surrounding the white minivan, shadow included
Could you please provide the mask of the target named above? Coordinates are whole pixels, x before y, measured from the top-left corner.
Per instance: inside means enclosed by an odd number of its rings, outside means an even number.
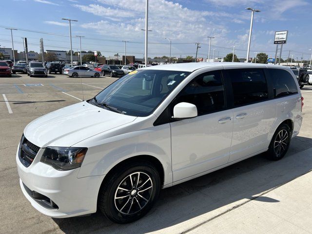
[[[126,225],[112,223],[99,212],[55,219],[36,211],[20,190],[16,168],[24,127],[92,98],[116,79],[0,78],[0,233],[311,233],[312,86],[302,90],[300,134],[280,161],[258,155],[162,190],[151,212]]]

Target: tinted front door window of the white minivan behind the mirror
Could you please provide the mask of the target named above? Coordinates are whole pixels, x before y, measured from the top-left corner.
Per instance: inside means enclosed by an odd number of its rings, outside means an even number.
[[[224,87],[220,71],[203,73],[194,78],[177,96],[175,104],[180,102],[194,104],[199,116],[224,109]]]

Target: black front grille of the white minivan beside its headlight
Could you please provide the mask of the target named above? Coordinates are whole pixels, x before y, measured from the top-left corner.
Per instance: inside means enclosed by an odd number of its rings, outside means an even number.
[[[40,147],[31,143],[29,140],[24,137],[21,137],[20,140],[20,149],[19,149],[19,158],[20,162],[25,166],[29,167],[30,164],[34,161]]]

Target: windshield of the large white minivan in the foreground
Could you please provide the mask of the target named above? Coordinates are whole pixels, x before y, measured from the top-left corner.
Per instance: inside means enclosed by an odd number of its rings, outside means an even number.
[[[182,71],[135,70],[105,88],[89,103],[124,115],[149,116],[189,74]]]

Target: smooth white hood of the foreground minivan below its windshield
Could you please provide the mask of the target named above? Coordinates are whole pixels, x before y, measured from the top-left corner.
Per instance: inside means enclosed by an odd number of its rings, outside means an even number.
[[[40,148],[69,147],[88,137],[130,123],[136,118],[83,101],[35,119],[26,126],[24,135]]]

